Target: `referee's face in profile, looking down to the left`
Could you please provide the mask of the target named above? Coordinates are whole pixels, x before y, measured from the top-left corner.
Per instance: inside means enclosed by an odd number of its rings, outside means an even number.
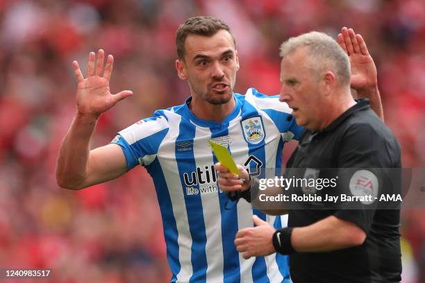
[[[281,97],[288,103],[299,126],[316,130],[320,110],[319,82],[309,68],[306,49],[285,56],[281,62]],[[325,110],[326,111],[326,110]]]

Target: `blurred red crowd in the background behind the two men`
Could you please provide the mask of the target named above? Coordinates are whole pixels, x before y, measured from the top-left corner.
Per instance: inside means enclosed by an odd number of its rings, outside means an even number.
[[[69,191],[56,185],[54,168],[76,111],[72,60],[83,69],[90,51],[104,49],[115,57],[111,92],[135,94],[101,116],[92,146],[108,144],[190,95],[174,69],[174,36],[196,15],[233,29],[242,94],[251,86],[278,94],[278,46],[288,37],[354,28],[378,67],[385,123],[403,166],[425,167],[423,0],[0,0],[0,268],[51,269],[54,280],[37,282],[169,282],[144,169]],[[403,209],[403,282],[425,282],[424,216]]]

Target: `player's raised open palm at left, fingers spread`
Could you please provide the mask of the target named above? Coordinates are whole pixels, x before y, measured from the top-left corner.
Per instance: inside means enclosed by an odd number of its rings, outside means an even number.
[[[112,108],[118,101],[131,96],[133,92],[124,90],[117,94],[111,94],[109,89],[110,74],[113,70],[113,55],[108,55],[104,65],[105,52],[99,49],[96,54],[90,52],[87,77],[84,78],[78,62],[72,62],[74,72],[78,80],[77,108],[79,114],[91,115],[95,118]]]

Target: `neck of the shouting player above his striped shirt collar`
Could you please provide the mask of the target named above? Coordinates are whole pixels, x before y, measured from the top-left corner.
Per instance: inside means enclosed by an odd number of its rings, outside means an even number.
[[[189,109],[199,119],[221,123],[228,114],[231,114],[235,106],[236,102],[233,96],[227,103],[219,105],[211,104],[201,98],[192,96]]]

